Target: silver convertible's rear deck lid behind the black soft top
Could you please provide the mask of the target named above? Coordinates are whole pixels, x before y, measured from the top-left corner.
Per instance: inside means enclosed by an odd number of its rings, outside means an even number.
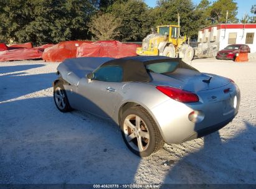
[[[154,85],[172,86],[194,93],[197,91],[212,90],[230,83],[228,78],[222,76],[181,68],[168,76],[158,73],[151,73],[151,76],[153,77],[152,83]],[[210,78],[211,80],[209,80]],[[209,80],[209,83],[207,80]]]

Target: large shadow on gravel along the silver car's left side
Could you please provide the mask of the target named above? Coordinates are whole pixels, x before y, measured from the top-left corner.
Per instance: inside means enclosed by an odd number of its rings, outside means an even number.
[[[50,97],[0,106],[1,183],[133,181],[140,158],[126,149],[113,122],[60,113]]]

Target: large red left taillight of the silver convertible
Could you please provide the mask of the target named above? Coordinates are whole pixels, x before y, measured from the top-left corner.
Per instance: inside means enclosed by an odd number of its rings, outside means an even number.
[[[156,88],[162,93],[166,94],[170,98],[179,101],[181,103],[196,103],[199,98],[196,94],[189,91],[180,90],[178,88],[172,88],[169,86],[156,86]]]

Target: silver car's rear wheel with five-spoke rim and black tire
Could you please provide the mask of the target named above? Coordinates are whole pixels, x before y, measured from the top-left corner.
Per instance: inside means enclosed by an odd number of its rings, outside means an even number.
[[[164,145],[156,122],[141,106],[127,109],[122,115],[120,127],[128,149],[140,157],[148,157]]]

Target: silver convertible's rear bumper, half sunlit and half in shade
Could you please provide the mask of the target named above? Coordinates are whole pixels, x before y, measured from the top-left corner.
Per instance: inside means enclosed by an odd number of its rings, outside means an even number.
[[[230,88],[230,93],[224,93],[226,88]],[[238,113],[240,91],[233,83],[197,95],[200,99],[198,103],[179,103],[169,99],[151,109],[164,141],[181,144],[205,136],[227,125]],[[212,99],[212,96],[216,98]],[[190,121],[188,116],[193,111],[201,111],[204,119],[199,122]]]

